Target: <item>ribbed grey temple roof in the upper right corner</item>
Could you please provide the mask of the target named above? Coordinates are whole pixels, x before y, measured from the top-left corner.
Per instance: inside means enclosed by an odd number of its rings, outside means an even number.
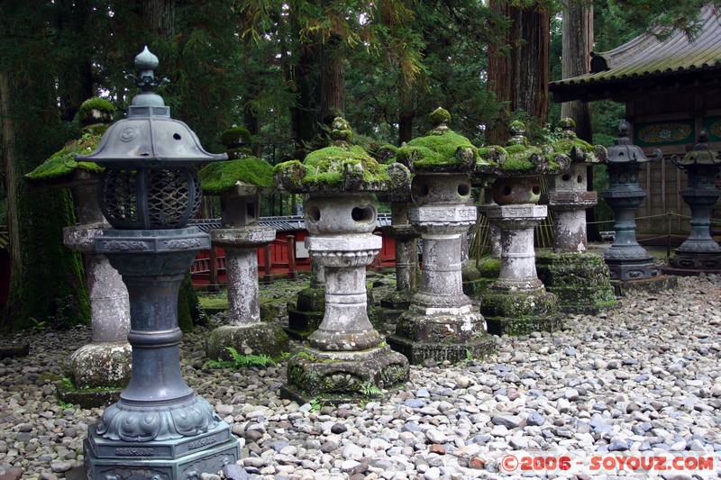
[[[721,77],[721,18],[705,6],[698,22],[693,40],[680,31],[665,40],[643,33],[616,49],[591,52],[591,73],[552,82],[553,100],[600,100],[630,93],[636,83],[647,89],[672,86],[689,75]]]

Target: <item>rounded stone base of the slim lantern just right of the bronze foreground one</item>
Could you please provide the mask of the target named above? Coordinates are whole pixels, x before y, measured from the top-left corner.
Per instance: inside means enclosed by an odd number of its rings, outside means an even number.
[[[267,322],[224,325],[212,331],[205,343],[208,358],[217,360],[232,360],[229,348],[241,355],[278,358],[287,351],[287,335],[279,325]]]

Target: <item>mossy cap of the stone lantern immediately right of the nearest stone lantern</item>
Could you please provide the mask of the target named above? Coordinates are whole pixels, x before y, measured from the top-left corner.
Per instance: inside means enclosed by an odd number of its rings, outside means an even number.
[[[465,173],[488,167],[470,140],[448,127],[451,113],[439,107],[430,113],[434,128],[397,149],[397,162],[415,173]]]

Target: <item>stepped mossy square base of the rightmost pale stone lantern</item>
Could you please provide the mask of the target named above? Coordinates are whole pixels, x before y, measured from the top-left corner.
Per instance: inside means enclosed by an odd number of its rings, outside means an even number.
[[[608,267],[598,255],[543,251],[535,267],[546,291],[558,296],[561,312],[595,315],[616,305]]]

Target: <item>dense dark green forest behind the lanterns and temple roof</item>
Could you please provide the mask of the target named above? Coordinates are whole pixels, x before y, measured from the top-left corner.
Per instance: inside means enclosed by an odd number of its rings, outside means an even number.
[[[144,45],[170,80],[160,94],[172,116],[205,149],[223,151],[220,132],[243,126],[255,155],[277,164],[323,146],[337,115],[370,151],[423,134],[438,106],[476,144],[505,142],[516,119],[543,140],[561,118],[549,80],[584,73],[590,50],[642,32],[692,37],[707,3],[3,0],[0,223],[12,276],[0,329],[89,321],[81,259],[61,241],[75,223],[71,194],[33,188],[23,176],[78,139],[78,107],[88,98],[105,97],[123,117],[135,94],[125,75]],[[613,102],[563,108],[582,138],[603,144],[624,116]],[[295,202],[274,195],[263,214],[294,213]]]

